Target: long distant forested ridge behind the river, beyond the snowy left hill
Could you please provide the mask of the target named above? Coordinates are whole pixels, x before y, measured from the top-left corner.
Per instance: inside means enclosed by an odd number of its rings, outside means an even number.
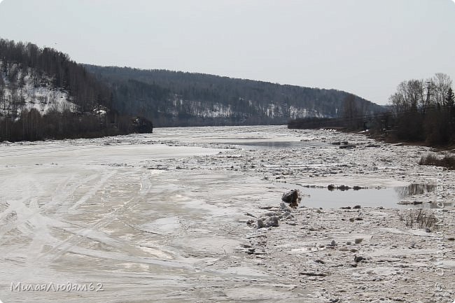
[[[85,65],[113,91],[119,111],[141,113],[155,126],[285,124],[290,119],[335,118],[351,94],[255,80],[126,67]],[[351,96],[352,97],[352,96]],[[358,113],[384,111],[355,97]]]

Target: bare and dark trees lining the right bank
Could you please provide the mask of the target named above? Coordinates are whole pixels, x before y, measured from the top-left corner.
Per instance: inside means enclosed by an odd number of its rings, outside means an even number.
[[[451,78],[444,73],[436,73],[425,80],[405,80],[389,97],[387,111],[374,115],[359,113],[356,106],[351,106],[352,97],[346,97],[339,118],[295,119],[288,123],[288,127],[369,129],[374,136],[386,140],[453,146],[455,94],[451,85]]]

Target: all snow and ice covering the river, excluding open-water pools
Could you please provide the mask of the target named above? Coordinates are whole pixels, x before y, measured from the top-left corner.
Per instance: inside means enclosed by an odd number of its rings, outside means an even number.
[[[239,144],[263,141],[290,146]],[[358,147],[342,150],[332,141]],[[430,232],[406,227],[399,218],[407,209],[398,205],[301,207],[270,230],[246,224],[252,219],[246,213],[260,218],[279,211],[283,192],[299,185],[431,182],[438,185],[436,192],[411,199],[454,201],[453,171],[416,164],[429,148],[370,143],[359,134],[283,126],[158,128],[153,134],[0,143],[0,298],[430,302],[444,295],[453,300],[453,281],[434,271],[442,264],[446,277],[453,276],[454,244],[447,240],[455,229],[451,206],[436,211],[444,225]],[[358,217],[363,220],[349,220]],[[356,238],[362,243],[353,244]],[[332,240],[337,246],[327,247]],[[415,248],[409,248],[412,242]],[[367,261],[352,267],[351,249]],[[12,282],[68,281],[103,283],[104,291],[10,291]],[[444,291],[435,292],[435,283]]]

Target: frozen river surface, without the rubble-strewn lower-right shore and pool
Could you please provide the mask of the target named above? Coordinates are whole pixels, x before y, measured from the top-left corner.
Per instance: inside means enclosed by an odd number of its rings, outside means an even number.
[[[330,144],[344,140],[357,148]],[[282,126],[3,143],[0,300],[304,302],[305,288],[236,249],[256,237],[246,213],[279,205],[293,188],[302,191],[302,205],[310,204],[305,186],[328,184],[432,183],[435,192],[410,199],[448,205],[454,176],[416,165],[426,153],[361,135]],[[323,199],[330,203],[330,196]],[[307,206],[327,206],[314,203],[321,205]],[[384,199],[382,205],[395,204]],[[75,290],[90,283],[92,291]],[[45,291],[44,284],[53,288]],[[62,289],[69,285],[73,291]]]

